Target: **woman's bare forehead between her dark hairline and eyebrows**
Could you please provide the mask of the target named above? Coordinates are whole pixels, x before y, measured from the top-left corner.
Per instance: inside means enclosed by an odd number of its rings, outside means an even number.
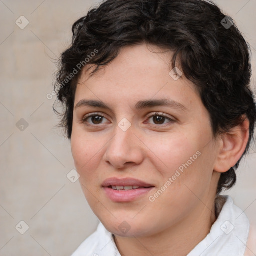
[[[186,104],[200,100],[194,84],[184,75],[177,80],[170,75],[171,58],[171,51],[152,45],[124,47],[93,75],[95,66],[85,66],[78,80],[75,103],[85,96],[123,104],[152,98],[170,98]]]

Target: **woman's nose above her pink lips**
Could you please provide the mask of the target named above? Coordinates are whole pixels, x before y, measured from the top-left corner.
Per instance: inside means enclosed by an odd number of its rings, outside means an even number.
[[[119,126],[106,145],[103,160],[118,169],[125,169],[143,161],[143,143],[134,129],[123,131]]]

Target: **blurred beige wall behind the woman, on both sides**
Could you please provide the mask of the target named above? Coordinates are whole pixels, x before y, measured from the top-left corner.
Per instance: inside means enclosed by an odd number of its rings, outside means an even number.
[[[255,77],[256,0],[215,2],[251,44]],[[0,256],[70,255],[98,223],[79,182],[66,177],[74,168],[70,144],[54,127],[55,97],[46,98],[71,25],[92,5],[97,1],[0,0]],[[24,29],[15,24],[21,15],[29,21]],[[256,223],[255,151],[225,194]],[[29,226],[23,235],[15,228],[25,230],[21,220]]]

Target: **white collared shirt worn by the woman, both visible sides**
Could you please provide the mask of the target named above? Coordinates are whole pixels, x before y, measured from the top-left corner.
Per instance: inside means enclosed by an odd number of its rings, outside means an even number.
[[[211,226],[208,235],[187,256],[245,255],[250,228],[249,220],[246,214],[234,205],[230,196],[220,195],[217,198],[219,200],[215,201],[218,216],[216,221]],[[256,255],[256,251],[247,248],[246,255]],[[97,230],[82,242],[71,256],[121,255],[115,245],[113,234],[107,231],[100,222]]]

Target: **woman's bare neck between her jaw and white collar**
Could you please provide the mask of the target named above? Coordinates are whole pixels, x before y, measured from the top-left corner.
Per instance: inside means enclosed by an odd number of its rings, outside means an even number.
[[[186,218],[161,233],[147,237],[115,236],[121,256],[185,256],[209,233],[215,216],[215,196],[198,203]],[[205,203],[206,202],[206,203]]]

